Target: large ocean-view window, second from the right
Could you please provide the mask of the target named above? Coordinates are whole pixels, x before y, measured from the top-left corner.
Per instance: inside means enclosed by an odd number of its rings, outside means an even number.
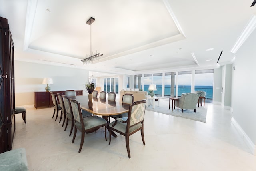
[[[178,96],[191,92],[191,71],[178,72]]]

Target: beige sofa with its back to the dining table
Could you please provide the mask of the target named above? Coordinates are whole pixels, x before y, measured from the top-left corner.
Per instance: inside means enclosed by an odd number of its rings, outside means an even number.
[[[148,91],[139,91],[139,89],[122,89],[119,91],[119,100],[122,101],[124,94],[132,94],[134,101],[145,100],[148,95]]]

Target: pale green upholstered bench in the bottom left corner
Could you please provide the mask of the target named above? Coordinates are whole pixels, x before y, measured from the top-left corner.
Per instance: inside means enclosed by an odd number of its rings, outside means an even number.
[[[19,148],[1,153],[0,171],[28,171],[25,149]]]

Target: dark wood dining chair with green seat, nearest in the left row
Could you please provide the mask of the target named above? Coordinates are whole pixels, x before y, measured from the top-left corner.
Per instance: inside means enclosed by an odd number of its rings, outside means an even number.
[[[107,134],[106,134],[107,121],[98,116],[90,116],[90,117],[83,118],[80,103],[78,103],[78,101],[74,99],[70,99],[70,103],[71,103],[71,109],[73,111],[74,121],[75,121],[75,125],[74,125],[75,130],[74,130],[72,143],[74,143],[74,140],[76,138],[77,129],[82,133],[78,153],[81,152],[82,146],[84,144],[85,133],[92,133],[98,130],[100,127],[105,127],[105,139],[107,141]]]

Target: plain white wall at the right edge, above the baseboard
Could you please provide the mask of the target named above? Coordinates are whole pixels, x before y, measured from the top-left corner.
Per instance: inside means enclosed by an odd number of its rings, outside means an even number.
[[[236,53],[235,74],[232,89],[233,118],[256,145],[256,31],[244,42]]]

